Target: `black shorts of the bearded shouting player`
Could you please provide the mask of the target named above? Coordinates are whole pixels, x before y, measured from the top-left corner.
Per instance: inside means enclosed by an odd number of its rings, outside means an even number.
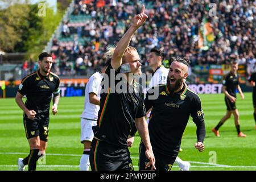
[[[146,147],[141,142],[139,145],[139,171],[151,170],[151,166],[145,169],[146,164],[149,162],[145,154]],[[163,156],[158,152],[154,151],[155,156],[155,168],[157,171],[171,171],[172,165],[175,162],[177,156]]]

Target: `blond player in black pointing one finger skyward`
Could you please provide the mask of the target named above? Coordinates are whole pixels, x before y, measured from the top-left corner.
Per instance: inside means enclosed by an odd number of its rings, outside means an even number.
[[[134,16],[117,47],[109,48],[107,52],[112,60],[102,80],[100,111],[97,126],[93,126],[94,138],[90,150],[93,171],[133,170],[127,138],[134,122],[145,144],[146,158],[150,161],[147,167],[155,169],[155,157],[144,117],[143,90],[134,81],[134,75],[141,75],[141,63],[137,50],[129,46],[133,34],[147,18],[142,5],[141,14]]]

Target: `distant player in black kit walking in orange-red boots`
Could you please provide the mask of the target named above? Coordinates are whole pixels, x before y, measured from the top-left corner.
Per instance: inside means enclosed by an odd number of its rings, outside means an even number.
[[[240,93],[242,100],[245,98],[239,85],[239,76],[237,75],[237,69],[238,63],[236,63],[236,61],[233,61],[231,63],[231,71],[224,76],[224,79],[222,81],[222,92],[225,94],[227,111],[226,115],[224,115],[221,121],[218,122],[218,125],[212,129],[212,132],[216,135],[216,137],[220,137],[218,129],[220,129],[224,122],[230,118],[231,114],[234,114],[234,122],[236,125],[238,137],[246,137],[246,135],[240,131],[239,113],[236,106],[236,89]]]

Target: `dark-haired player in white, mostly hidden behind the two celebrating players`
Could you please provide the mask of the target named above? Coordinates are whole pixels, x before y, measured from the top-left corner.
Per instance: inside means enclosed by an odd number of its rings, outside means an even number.
[[[159,49],[152,48],[150,51],[148,63],[152,68],[152,70],[154,71],[154,73],[150,80],[150,84],[148,88],[166,84],[169,71],[167,68],[165,68],[162,65],[162,60],[163,60],[163,52],[159,51]],[[149,122],[150,114],[151,114],[151,109],[147,111],[147,123]],[[134,126],[133,126],[133,129],[130,135],[134,136],[135,133],[136,133],[136,128],[134,129]],[[180,167],[181,171],[189,171],[189,167],[191,166],[189,162],[181,160],[178,156],[175,160],[175,164],[177,164]]]

